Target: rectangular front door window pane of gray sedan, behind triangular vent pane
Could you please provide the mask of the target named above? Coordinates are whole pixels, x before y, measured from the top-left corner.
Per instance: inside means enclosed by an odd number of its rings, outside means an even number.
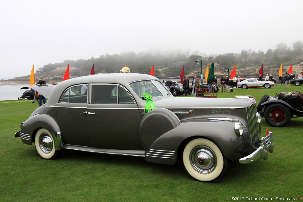
[[[117,85],[92,84],[92,103],[95,104],[117,104]]]

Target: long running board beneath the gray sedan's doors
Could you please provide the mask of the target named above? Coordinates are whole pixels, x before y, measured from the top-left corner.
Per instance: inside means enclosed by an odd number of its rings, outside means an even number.
[[[78,145],[72,145],[72,144],[64,144],[63,148],[79,150],[79,151],[89,151],[89,152],[102,153],[102,154],[116,154],[116,155],[145,157],[144,150],[140,151],[140,150],[100,149],[100,148],[95,148],[95,147],[85,147],[85,146],[78,146]]]

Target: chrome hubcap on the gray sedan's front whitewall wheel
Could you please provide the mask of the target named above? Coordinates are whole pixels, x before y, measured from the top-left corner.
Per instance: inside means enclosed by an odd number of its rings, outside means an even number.
[[[194,147],[190,152],[191,166],[201,174],[211,173],[217,165],[217,157],[211,148],[205,145]]]

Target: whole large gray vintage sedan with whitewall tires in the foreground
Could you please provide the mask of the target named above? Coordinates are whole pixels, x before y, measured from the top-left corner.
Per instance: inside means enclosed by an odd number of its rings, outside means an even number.
[[[34,142],[44,159],[55,159],[64,149],[168,165],[180,159],[192,178],[216,182],[229,161],[267,160],[274,149],[271,132],[261,138],[261,117],[251,96],[176,98],[145,74],[90,75],[29,87],[47,89],[46,97],[53,90],[15,137]],[[145,94],[152,96],[155,109],[148,111]]]

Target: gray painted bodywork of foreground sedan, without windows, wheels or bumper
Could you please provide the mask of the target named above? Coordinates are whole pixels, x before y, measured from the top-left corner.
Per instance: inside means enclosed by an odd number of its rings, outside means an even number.
[[[78,150],[100,153],[132,155],[145,152],[142,156],[145,156],[146,161],[161,164],[175,164],[178,151],[184,144],[191,139],[201,137],[217,144],[229,160],[238,160],[245,152],[255,151],[251,145],[248,149],[244,149],[243,136],[238,137],[235,133],[235,122],[207,120],[208,118],[236,118],[248,128],[247,108],[255,106],[255,100],[176,98],[167,91],[169,95],[154,97],[152,101],[157,109],[167,109],[170,111],[167,112],[168,116],[175,116],[173,119],[180,122],[166,128],[168,124],[155,121],[154,124],[157,125],[144,130],[145,127],[140,128],[140,124],[148,125],[148,123],[142,123],[145,120],[143,117],[148,115],[144,115],[145,100],[139,98],[130,87],[130,83],[142,80],[158,79],[143,74],[102,74],[73,78],[59,83],[54,86],[47,103],[35,110],[23,124],[21,133],[30,135],[31,138],[30,140],[22,139],[22,142],[32,144],[36,131],[45,128],[51,133],[61,133],[62,143],[55,141],[56,148],[59,148],[58,144],[62,144],[63,148],[78,148]],[[91,104],[90,84],[94,83],[119,84],[132,94],[135,102]],[[59,103],[63,92],[76,84],[88,84],[88,103]],[[190,110],[194,114],[190,115],[188,113]],[[84,112],[94,114],[83,114]],[[163,118],[163,116],[155,115],[155,119],[157,117]],[[152,154],[157,154],[155,151],[168,151],[164,153],[171,153],[167,156],[173,157],[161,157],[161,152],[160,156],[156,157],[149,155],[151,151]]]

